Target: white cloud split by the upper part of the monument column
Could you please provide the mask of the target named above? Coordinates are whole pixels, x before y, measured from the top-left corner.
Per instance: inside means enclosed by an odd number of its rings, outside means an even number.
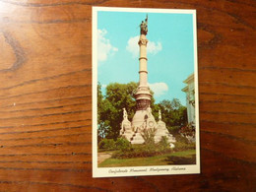
[[[127,42],[126,50],[131,52],[134,58],[139,57],[139,45],[138,45],[139,38],[140,38],[139,35],[133,36],[133,37],[130,37]],[[162,48],[161,43],[159,41],[154,42],[149,40],[147,45],[147,52],[149,54],[155,55],[158,52],[160,52],[161,48]]]

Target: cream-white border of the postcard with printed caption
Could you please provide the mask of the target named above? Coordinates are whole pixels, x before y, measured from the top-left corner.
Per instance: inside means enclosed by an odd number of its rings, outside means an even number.
[[[188,165],[154,165],[128,167],[97,167],[97,12],[142,12],[142,13],[173,13],[192,14],[194,32],[194,81],[195,81],[195,114],[196,114],[196,164]],[[198,59],[197,59],[197,27],[196,10],[179,9],[146,9],[146,8],[117,8],[93,7],[93,177],[119,177],[142,175],[196,174],[200,173],[200,140],[199,140],[199,94],[198,94]]]

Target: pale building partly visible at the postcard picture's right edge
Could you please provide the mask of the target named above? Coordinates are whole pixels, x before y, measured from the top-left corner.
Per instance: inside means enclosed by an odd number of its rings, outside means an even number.
[[[188,78],[183,81],[186,87],[182,89],[182,92],[186,93],[186,105],[187,105],[187,118],[188,123],[195,124],[195,83],[194,83],[194,73],[188,76]]]

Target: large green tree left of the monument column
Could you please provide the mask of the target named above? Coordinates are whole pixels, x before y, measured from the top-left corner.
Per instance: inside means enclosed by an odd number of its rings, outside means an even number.
[[[133,117],[136,110],[134,93],[137,87],[138,84],[134,82],[129,84],[111,83],[106,87],[103,101],[98,102],[97,106],[100,112],[98,124],[102,125],[100,130],[104,133],[105,138],[116,139],[118,137],[123,119],[123,108],[126,108],[129,119]],[[98,134],[100,134],[99,131]],[[99,135],[99,137],[101,136]]]

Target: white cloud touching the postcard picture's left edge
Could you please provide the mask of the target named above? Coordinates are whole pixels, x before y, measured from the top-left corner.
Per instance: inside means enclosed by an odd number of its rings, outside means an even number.
[[[107,57],[114,52],[118,51],[118,48],[114,47],[110,40],[105,37],[106,30],[97,30],[97,60],[105,61]]]

